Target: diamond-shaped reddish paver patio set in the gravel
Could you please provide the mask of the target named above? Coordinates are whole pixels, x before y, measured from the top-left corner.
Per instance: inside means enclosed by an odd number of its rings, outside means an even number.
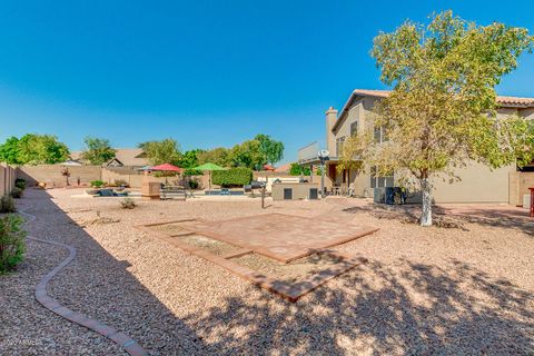
[[[217,264],[290,301],[296,301],[329,279],[367,261],[360,256],[339,254],[327,249],[328,247],[378,230],[374,227],[354,224],[346,224],[340,228],[338,222],[322,218],[310,219],[283,214],[239,217],[220,221],[184,219],[137,227],[185,251]],[[191,235],[204,239],[202,244],[191,245]],[[226,253],[207,248],[209,245],[212,247],[214,243],[225,244]],[[271,260],[283,264],[290,264],[293,260],[315,254],[316,261],[313,265],[316,268],[309,274],[284,280],[279,276],[260,273],[256,268],[238,263],[239,257],[254,254],[267,256]],[[335,263],[319,267],[317,261],[324,257],[334,258]],[[298,269],[297,266],[290,265],[287,265],[287,268]]]

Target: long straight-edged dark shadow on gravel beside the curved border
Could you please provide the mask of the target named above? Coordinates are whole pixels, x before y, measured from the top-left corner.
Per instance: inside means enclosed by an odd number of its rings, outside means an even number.
[[[28,212],[37,217],[36,222],[46,221],[32,235],[77,248],[75,260],[50,283],[49,295],[128,334],[150,355],[201,354],[201,339],[127,270],[128,261],[106,251],[46,191],[28,189],[23,204],[30,206]]]

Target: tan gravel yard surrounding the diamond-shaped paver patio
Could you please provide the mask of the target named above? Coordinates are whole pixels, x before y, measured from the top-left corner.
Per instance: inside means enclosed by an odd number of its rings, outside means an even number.
[[[79,192],[29,189],[22,199],[36,209],[36,234],[78,249],[75,263],[52,280],[50,294],[127,333],[151,355],[534,354],[530,221],[469,218],[461,228],[422,228],[396,216],[376,216],[365,200],[337,198],[269,202],[265,210],[254,199],[139,201],[126,211],[112,199],[70,197]],[[290,304],[134,227],[269,212],[380,230],[336,248],[366,257],[367,264]],[[80,227],[97,218],[108,222]],[[36,258],[53,257],[43,255]],[[26,278],[16,286],[38,280],[38,271],[22,274],[8,278]],[[89,333],[73,342],[76,327],[55,316],[31,319],[26,307],[18,307],[32,303],[31,288],[13,288],[29,290],[14,303],[4,297],[2,309],[10,303],[16,315],[31,322],[20,322],[27,328],[6,328],[9,337],[23,337],[33,327],[76,350],[63,354],[91,348],[89,354],[121,355],[106,340],[91,343]],[[16,293],[3,290],[2,296]],[[62,323],[68,329],[57,329]]]

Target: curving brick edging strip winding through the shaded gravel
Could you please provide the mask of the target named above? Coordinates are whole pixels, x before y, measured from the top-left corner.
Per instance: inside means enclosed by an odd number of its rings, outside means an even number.
[[[26,212],[26,210],[27,209],[19,211],[20,215],[23,215],[28,218],[26,224],[29,224],[36,220],[36,217],[31,214]],[[37,284],[36,293],[34,293],[37,301],[39,301],[44,308],[59,315],[60,317],[71,323],[83,326],[97,334],[100,334],[109,338],[111,342],[122,347],[130,356],[148,356],[148,353],[128,335],[103,323],[91,319],[83,314],[73,312],[67,308],[66,306],[62,306],[56,299],[53,299],[48,295],[47,286],[50,283],[50,280],[76,258],[75,247],[70,245],[57,243],[57,241],[50,241],[50,240],[31,237],[31,236],[28,236],[27,239],[38,241],[38,243],[49,244],[53,246],[59,246],[69,250],[69,256],[66,259],[63,259],[63,261],[61,261],[58,266],[56,266],[52,270],[50,270],[47,275],[44,275],[44,277],[42,277],[41,280]]]

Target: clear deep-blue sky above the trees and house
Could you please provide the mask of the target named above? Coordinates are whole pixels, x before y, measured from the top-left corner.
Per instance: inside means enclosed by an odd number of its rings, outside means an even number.
[[[385,88],[368,56],[378,31],[444,9],[534,30],[532,1],[2,1],[0,140],[191,149],[263,132],[291,160],[324,139],[329,106]],[[534,97],[534,55],[498,91]]]

